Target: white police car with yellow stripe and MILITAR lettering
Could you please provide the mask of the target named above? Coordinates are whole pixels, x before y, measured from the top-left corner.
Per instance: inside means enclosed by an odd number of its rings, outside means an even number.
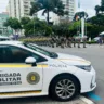
[[[95,87],[95,70],[81,57],[48,52],[32,43],[0,42],[0,99],[49,94],[68,101]]]

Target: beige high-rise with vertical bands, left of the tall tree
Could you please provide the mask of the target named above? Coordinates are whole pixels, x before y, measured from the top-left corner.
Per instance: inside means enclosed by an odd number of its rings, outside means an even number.
[[[29,17],[31,0],[9,0],[8,12],[10,17]]]

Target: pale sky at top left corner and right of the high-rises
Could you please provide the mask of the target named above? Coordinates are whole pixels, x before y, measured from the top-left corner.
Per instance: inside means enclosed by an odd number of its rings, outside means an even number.
[[[76,1],[76,11],[78,9],[78,0]],[[80,10],[84,10],[89,17],[95,15],[94,6],[100,5],[101,0],[79,0],[80,1]],[[5,12],[9,0],[0,0],[0,13]]]

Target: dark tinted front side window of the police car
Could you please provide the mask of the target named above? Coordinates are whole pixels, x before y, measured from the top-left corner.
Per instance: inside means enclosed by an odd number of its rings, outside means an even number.
[[[31,53],[27,50],[9,46],[6,48],[3,48],[3,62],[4,63],[25,63],[25,60],[29,56],[32,56],[38,62],[47,61],[46,58]]]

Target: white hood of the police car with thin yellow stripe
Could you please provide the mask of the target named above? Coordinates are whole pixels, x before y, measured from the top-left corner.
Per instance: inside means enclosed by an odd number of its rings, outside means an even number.
[[[57,54],[58,54],[58,57],[56,60],[67,65],[91,65],[91,62],[79,56],[63,54],[63,53],[57,53]]]

